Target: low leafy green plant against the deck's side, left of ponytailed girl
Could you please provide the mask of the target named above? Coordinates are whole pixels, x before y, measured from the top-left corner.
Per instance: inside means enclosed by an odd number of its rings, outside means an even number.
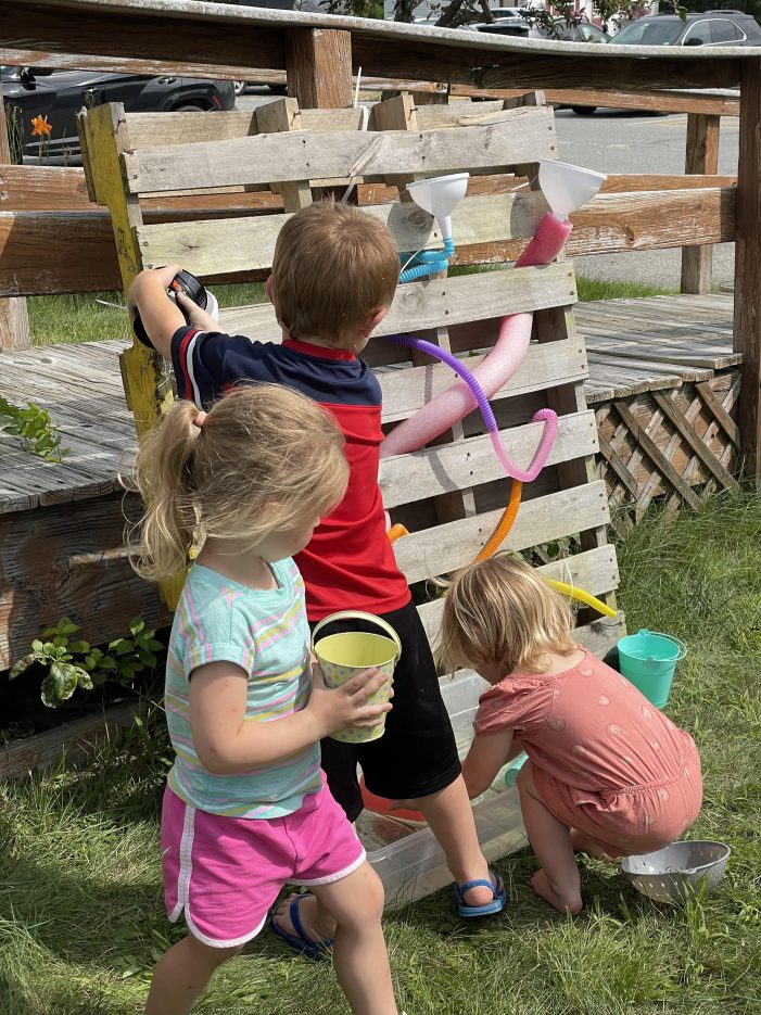
[[[49,708],[58,708],[72,697],[77,687],[92,690],[106,681],[131,686],[135,677],[155,670],[157,651],[163,649],[155,631],[145,630],[145,621],[136,617],[129,622],[127,638],[110,642],[105,651],[80,638],[72,640],[79,630],[67,617],[54,627],[46,627],[41,638],[31,643],[31,651],[11,668],[8,678],[13,681],[37,662],[47,668],[40,697]]]

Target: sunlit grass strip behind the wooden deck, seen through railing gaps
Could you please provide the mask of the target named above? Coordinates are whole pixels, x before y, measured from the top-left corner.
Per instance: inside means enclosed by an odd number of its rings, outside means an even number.
[[[495,266],[496,268],[497,266]],[[452,275],[473,275],[483,270],[483,266],[453,268]],[[637,282],[598,282],[579,277],[579,300],[618,300],[623,297],[668,295],[674,289],[658,289]],[[264,303],[264,286],[218,286],[214,294],[223,307],[241,306],[249,303]],[[30,296],[29,327],[35,345],[52,345],[59,342],[100,342],[104,339],[129,338],[130,330],[124,310],[100,306],[96,299],[111,303],[124,303],[122,293],[80,293],[66,296]]]

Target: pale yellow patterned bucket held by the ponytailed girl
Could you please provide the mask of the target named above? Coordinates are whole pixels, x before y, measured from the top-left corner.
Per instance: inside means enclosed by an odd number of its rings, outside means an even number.
[[[364,620],[376,624],[384,634],[368,634],[366,631],[343,631],[317,640],[320,629],[339,620]],[[322,670],[327,687],[340,687],[363,670],[377,667],[384,676],[393,677],[394,668],[402,655],[402,643],[391,624],[380,617],[359,610],[342,610],[321,620],[312,633],[313,650]],[[368,705],[385,705],[391,692],[391,680],[368,698]],[[348,726],[331,734],[334,740],[344,744],[364,744],[377,740],[385,732],[385,715],[377,726]]]

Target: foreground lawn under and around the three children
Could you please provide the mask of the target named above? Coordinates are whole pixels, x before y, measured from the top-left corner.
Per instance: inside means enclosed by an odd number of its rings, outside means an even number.
[[[698,743],[705,804],[690,836],[730,842],[722,884],[686,910],[583,866],[587,909],[554,914],[524,851],[499,863],[507,910],[466,923],[442,891],[386,917],[409,1015],[761,1015],[761,502],[721,496],[649,516],[619,548],[630,630],[684,637],[669,713]],[[0,787],[1,1015],[137,1015],[163,913],[157,813],[164,765],[107,750],[77,773]],[[199,1015],[337,1015],[329,964],[268,934],[217,975]]]

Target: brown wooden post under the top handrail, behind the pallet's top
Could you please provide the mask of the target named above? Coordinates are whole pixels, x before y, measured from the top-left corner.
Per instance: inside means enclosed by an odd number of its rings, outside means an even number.
[[[352,92],[352,35],[322,28],[286,31],[288,93],[302,110],[347,109]]]

